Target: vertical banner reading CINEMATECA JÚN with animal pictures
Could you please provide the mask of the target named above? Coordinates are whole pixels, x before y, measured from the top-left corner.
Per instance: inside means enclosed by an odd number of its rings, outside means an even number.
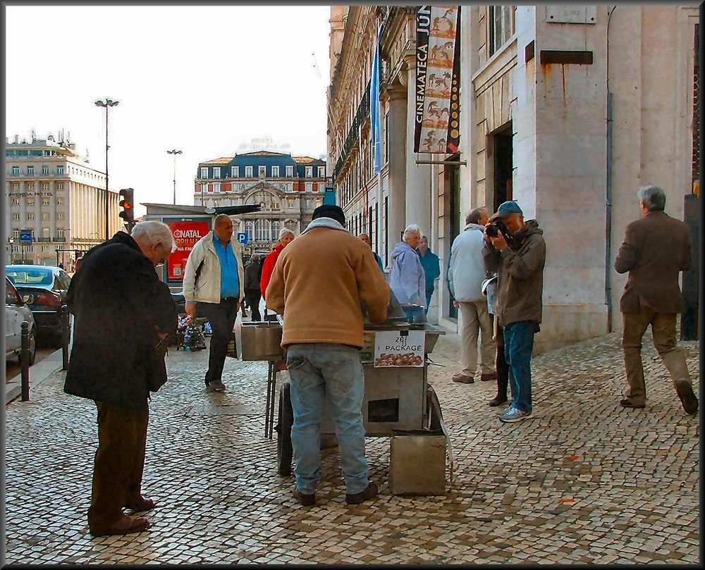
[[[460,6],[419,6],[416,15],[414,151],[452,154],[460,140]]]

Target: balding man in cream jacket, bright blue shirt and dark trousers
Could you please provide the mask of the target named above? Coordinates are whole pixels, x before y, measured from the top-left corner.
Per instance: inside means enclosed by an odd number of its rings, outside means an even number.
[[[205,383],[209,391],[224,392],[223,366],[235,318],[245,297],[243,247],[233,240],[233,221],[221,213],[213,231],[196,242],[183,272],[186,313],[198,313],[211,323],[211,346]]]

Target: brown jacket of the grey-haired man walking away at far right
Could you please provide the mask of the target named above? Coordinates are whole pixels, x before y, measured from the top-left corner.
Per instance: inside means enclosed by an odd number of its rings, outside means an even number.
[[[629,271],[620,299],[623,313],[649,307],[657,313],[682,313],[685,300],[678,273],[692,265],[690,230],[663,211],[651,211],[627,225],[615,259],[615,271]]]

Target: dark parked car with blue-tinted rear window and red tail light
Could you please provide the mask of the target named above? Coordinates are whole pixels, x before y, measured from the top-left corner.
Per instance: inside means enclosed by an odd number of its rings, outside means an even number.
[[[66,292],[71,283],[68,273],[55,266],[6,265],[5,275],[32,310],[37,324],[37,339],[61,347],[61,305],[66,302]]]

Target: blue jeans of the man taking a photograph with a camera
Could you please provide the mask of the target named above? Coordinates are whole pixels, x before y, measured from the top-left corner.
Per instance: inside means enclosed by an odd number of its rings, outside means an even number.
[[[531,352],[536,332],[534,321],[511,323],[504,328],[504,355],[509,365],[512,405],[521,411],[532,411]]]

